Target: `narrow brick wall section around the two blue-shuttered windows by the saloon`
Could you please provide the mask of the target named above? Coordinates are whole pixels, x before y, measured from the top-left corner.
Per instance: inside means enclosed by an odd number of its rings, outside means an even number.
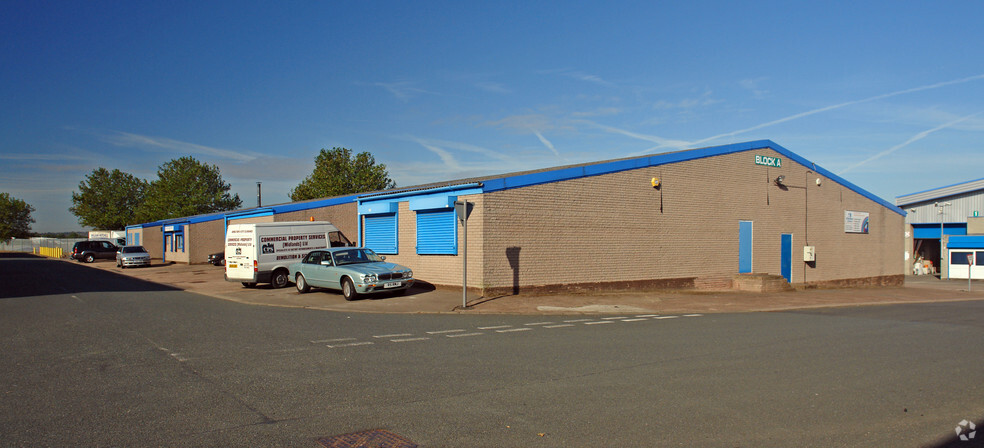
[[[468,219],[468,287],[482,287],[483,261],[483,197],[481,195],[458,196],[458,200],[474,203]],[[413,269],[415,278],[439,286],[461,286],[461,269],[463,253],[462,226],[458,224],[458,255],[417,255],[417,220],[416,212],[410,210],[409,202],[398,204],[397,244],[399,253],[386,255],[386,261],[399,263]]]

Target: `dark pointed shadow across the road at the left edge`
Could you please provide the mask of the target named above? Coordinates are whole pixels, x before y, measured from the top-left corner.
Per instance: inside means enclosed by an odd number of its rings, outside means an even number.
[[[97,263],[114,262],[97,261]],[[31,254],[0,253],[0,299],[102,291],[178,291],[178,289],[109,270],[90,269],[75,262],[51,260]]]

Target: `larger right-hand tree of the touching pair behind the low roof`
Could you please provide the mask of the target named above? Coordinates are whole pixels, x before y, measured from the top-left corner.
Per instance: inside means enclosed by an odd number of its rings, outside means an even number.
[[[137,219],[150,222],[234,210],[243,201],[229,194],[231,188],[218,166],[188,156],[172,159],[157,169],[157,180],[148,186]]]

